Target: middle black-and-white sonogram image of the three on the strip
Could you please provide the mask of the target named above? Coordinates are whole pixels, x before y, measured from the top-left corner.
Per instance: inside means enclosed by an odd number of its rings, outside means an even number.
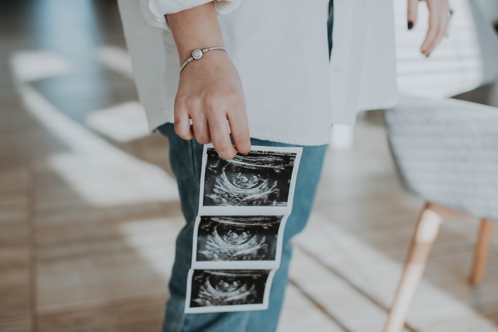
[[[203,216],[197,261],[274,260],[283,216]]]

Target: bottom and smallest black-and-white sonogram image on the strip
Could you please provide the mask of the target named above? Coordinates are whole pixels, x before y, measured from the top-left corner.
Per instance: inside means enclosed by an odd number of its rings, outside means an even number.
[[[194,270],[190,307],[262,304],[269,270]]]

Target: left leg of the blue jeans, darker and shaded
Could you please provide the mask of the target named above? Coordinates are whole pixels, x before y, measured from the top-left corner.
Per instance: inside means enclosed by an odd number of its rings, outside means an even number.
[[[178,137],[173,124],[158,128],[169,139],[170,162],[178,183],[182,212],[187,224],[176,238],[175,262],[169,282],[170,299],[166,304],[163,332],[245,332],[247,312],[185,314],[188,271],[192,262],[192,236],[199,207],[199,183],[203,145],[194,139]]]

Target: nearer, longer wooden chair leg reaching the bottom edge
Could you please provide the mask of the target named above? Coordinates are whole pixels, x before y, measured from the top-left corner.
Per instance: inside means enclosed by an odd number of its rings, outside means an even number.
[[[384,332],[399,332],[403,329],[408,307],[422,278],[432,243],[443,221],[435,210],[428,203],[420,214]]]

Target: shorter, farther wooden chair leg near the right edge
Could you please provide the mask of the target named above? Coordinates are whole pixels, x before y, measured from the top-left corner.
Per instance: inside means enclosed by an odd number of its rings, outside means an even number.
[[[476,249],[474,250],[474,261],[469,277],[469,282],[473,286],[480,284],[483,280],[486,263],[488,261],[488,253],[490,251],[493,225],[493,221],[491,220],[481,220],[481,226],[479,227],[479,233],[477,235]]]

